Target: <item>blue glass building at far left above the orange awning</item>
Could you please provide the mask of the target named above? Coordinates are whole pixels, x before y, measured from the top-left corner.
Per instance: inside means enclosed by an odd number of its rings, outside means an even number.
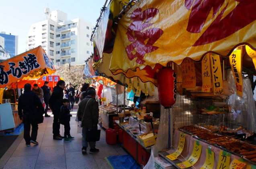
[[[4,48],[7,54],[10,54],[10,57],[18,55],[18,36],[12,34],[6,34],[6,32],[1,32],[0,36],[4,38]]]

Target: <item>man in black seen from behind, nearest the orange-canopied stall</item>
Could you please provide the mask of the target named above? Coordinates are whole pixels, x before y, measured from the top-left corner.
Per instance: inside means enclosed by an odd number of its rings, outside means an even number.
[[[33,116],[33,113],[35,113],[37,107],[43,111],[43,105],[37,94],[31,91],[31,84],[25,84],[24,89],[24,94],[20,95],[18,99],[18,115],[20,120],[23,118],[24,139],[26,145],[30,146],[30,143],[38,144],[36,141],[38,124],[35,123],[31,117]],[[31,136],[30,125],[32,125]]]

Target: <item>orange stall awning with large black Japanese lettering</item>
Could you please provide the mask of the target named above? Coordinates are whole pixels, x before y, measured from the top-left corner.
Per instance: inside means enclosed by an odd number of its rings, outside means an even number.
[[[18,80],[39,78],[56,71],[41,46],[5,60],[0,65],[0,88]]]

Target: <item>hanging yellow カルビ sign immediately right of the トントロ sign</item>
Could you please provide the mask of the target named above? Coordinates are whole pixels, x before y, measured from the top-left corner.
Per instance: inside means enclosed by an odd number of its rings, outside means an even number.
[[[236,82],[236,93],[240,97],[243,97],[243,78],[241,72],[242,57],[241,50],[234,50],[229,56],[230,66],[233,72],[233,77]]]

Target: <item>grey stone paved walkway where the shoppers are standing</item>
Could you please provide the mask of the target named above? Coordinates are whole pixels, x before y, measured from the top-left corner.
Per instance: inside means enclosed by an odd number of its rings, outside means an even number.
[[[76,107],[77,105],[74,108]],[[127,153],[118,144],[107,144],[105,131],[101,129],[100,141],[96,142],[96,148],[100,149],[100,152],[90,154],[88,147],[88,153],[82,154],[82,135],[78,131],[81,128],[77,127],[75,121],[76,111],[74,109],[72,112],[73,117],[70,121],[70,133],[75,137],[74,140],[53,140],[53,115],[48,111],[51,117],[45,117],[44,122],[39,124],[39,145],[31,143],[31,146],[26,146],[21,133],[0,159],[0,169],[111,169],[104,157]],[[64,133],[63,125],[60,133]]]

